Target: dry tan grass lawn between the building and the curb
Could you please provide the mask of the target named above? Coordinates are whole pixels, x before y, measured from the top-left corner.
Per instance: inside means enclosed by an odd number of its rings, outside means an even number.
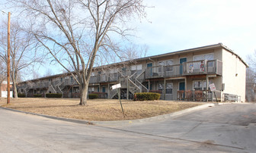
[[[125,120],[153,117],[169,114],[202,105],[200,102],[184,101],[130,101],[121,100],[126,115]],[[75,118],[79,120],[124,120],[120,102],[116,99],[88,100],[88,106],[78,105],[78,98],[18,98],[11,99],[6,105],[6,98],[0,99],[5,108],[17,109],[37,114],[56,117]]]

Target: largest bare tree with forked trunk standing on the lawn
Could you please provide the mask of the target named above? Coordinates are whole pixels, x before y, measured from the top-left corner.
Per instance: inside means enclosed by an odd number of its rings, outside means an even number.
[[[115,39],[129,36],[127,22],[145,17],[142,0],[12,0],[30,17],[30,33],[79,85],[87,105],[94,62],[101,55],[120,56]],[[104,59],[101,59],[104,60]],[[70,70],[68,67],[72,67]]]

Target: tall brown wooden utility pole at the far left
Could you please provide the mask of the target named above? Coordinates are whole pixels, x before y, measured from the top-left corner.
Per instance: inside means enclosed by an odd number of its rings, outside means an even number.
[[[8,47],[7,47],[7,52],[8,52],[8,54],[7,54],[7,90],[8,90],[8,92],[7,92],[7,104],[9,104],[10,103],[10,43],[11,43],[11,40],[10,40],[10,27],[11,27],[11,25],[10,25],[10,23],[11,23],[11,21],[10,21],[10,19],[11,19],[11,13],[10,12],[8,12]]]

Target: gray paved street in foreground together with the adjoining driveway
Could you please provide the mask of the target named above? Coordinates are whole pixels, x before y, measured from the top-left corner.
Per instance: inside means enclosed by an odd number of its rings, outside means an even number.
[[[0,152],[254,152],[256,105],[93,126],[0,108]],[[109,124],[108,124],[109,125]]]

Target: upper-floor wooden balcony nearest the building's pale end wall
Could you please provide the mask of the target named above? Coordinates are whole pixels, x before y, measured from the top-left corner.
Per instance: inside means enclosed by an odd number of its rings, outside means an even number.
[[[146,79],[200,74],[222,75],[222,61],[188,61],[177,65],[146,67]]]

